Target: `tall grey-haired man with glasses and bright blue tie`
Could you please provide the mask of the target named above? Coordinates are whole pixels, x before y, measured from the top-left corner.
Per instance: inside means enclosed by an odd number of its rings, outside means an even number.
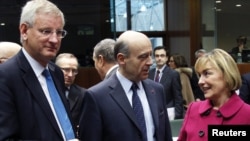
[[[22,9],[20,36],[23,48],[0,65],[0,140],[63,141],[75,138],[64,95],[63,73],[50,60],[65,37],[63,13],[50,1],[28,1]],[[44,70],[50,77],[43,75]],[[56,89],[47,87],[54,83]],[[53,102],[61,111],[69,134]],[[53,96],[53,98],[52,98]],[[69,136],[68,136],[69,135]]]

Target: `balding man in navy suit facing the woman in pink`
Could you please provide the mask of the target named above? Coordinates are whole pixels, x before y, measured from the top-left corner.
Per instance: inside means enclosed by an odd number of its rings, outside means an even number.
[[[147,79],[152,65],[151,54],[151,42],[144,34],[126,31],[120,35],[114,48],[118,71],[86,92],[80,119],[80,139],[172,140],[163,87]],[[134,84],[138,89],[132,91]],[[137,97],[137,100],[141,101],[138,105],[134,104],[136,92],[140,99]],[[136,115],[134,108],[137,106],[143,109]],[[138,115],[142,116],[140,120],[137,120]]]

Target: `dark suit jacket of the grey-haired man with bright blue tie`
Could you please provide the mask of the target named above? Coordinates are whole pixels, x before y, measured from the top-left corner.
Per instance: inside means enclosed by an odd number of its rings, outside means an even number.
[[[52,62],[49,70],[69,115],[63,73]],[[0,97],[1,141],[63,140],[41,84],[22,51],[0,65]]]

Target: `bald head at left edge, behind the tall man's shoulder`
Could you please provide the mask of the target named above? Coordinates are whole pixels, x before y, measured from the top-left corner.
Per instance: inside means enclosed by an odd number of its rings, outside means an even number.
[[[0,42],[0,64],[13,57],[22,47],[14,42]]]

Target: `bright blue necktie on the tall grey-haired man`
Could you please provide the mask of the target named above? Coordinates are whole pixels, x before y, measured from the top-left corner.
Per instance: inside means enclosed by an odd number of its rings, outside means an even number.
[[[74,139],[74,131],[72,129],[72,125],[68,118],[68,114],[65,110],[65,107],[62,103],[61,98],[56,90],[55,84],[51,78],[49,70],[45,69],[42,73],[46,78],[47,87],[49,90],[50,98],[53,103],[54,109],[56,111],[57,118],[60,122],[60,125],[63,129],[66,140]]]

